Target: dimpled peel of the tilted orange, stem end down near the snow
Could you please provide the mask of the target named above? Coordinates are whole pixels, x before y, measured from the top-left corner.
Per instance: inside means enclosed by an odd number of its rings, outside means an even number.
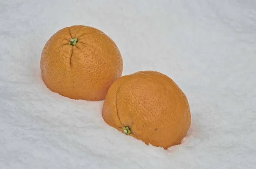
[[[186,95],[168,76],[141,71],[116,80],[102,109],[105,122],[146,144],[167,149],[180,144],[189,130],[191,115]]]

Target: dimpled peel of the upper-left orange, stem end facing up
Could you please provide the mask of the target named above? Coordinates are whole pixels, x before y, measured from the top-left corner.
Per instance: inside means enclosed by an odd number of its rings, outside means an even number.
[[[77,38],[76,46],[69,45]],[[104,100],[111,84],[122,76],[122,56],[102,31],[71,26],[50,37],[41,54],[41,75],[52,91],[71,99]]]

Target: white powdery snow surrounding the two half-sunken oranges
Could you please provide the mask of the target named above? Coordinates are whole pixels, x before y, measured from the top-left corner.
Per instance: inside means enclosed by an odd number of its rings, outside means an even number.
[[[256,1],[0,0],[0,169],[256,168]],[[182,144],[147,146],[108,126],[103,101],[41,80],[44,44],[87,25],[120,49],[123,75],[155,70],[189,100]]]

